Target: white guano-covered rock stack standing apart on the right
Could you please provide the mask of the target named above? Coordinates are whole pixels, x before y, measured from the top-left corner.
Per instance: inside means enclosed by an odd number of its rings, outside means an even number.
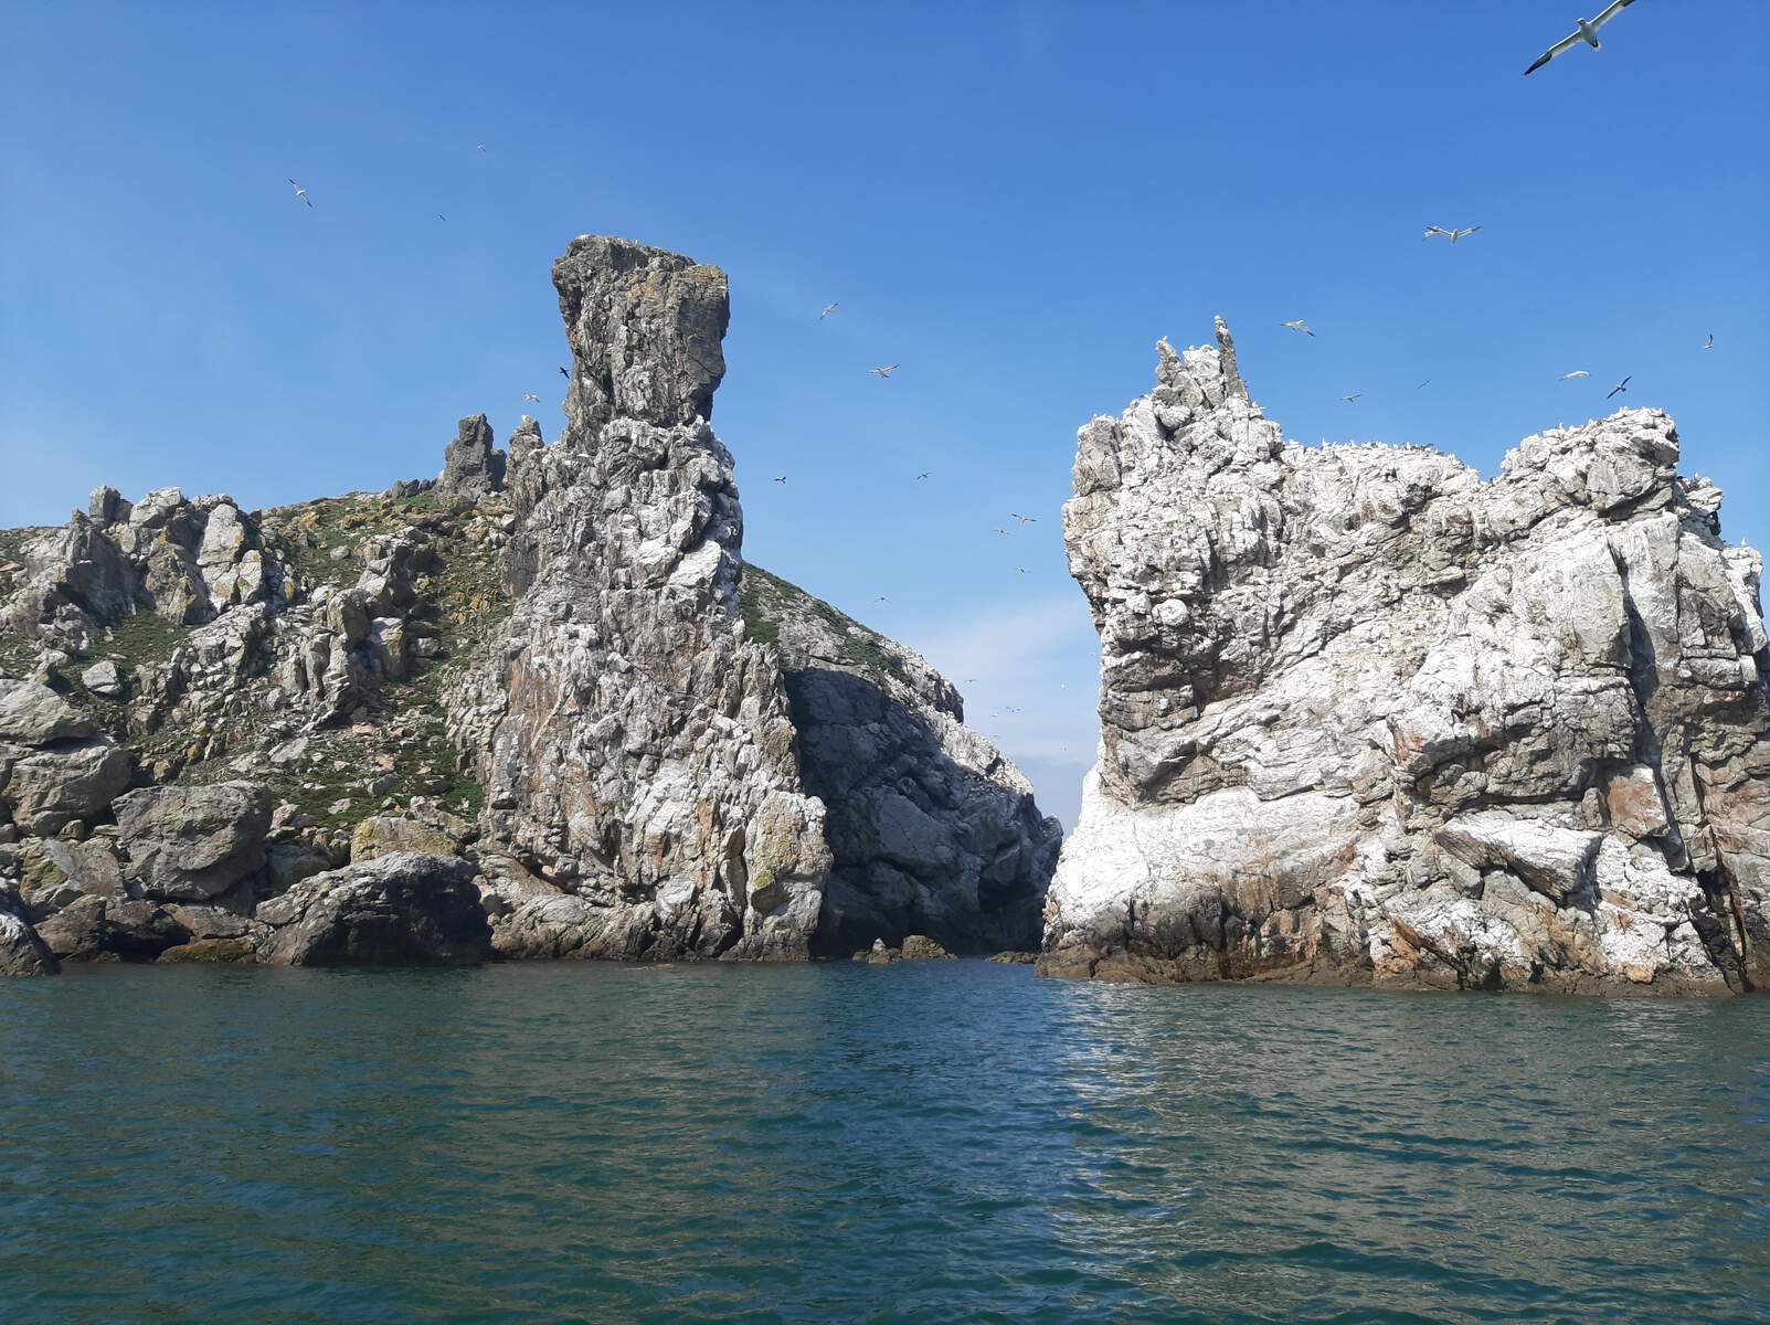
[[[1756,552],[1657,410],[1283,440],[1228,331],[1080,433],[1101,739],[1051,975],[1549,991],[1770,984]]]

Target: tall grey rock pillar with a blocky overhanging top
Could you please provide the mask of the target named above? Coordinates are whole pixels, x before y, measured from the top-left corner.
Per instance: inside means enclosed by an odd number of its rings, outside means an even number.
[[[743,517],[706,423],[726,278],[577,239],[554,285],[570,425],[512,465],[522,596],[451,697],[481,828],[604,913],[607,955],[805,955],[830,854],[738,612]]]

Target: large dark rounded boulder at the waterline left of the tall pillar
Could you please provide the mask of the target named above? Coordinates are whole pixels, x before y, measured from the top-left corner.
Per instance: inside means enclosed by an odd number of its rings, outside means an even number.
[[[492,952],[473,865],[398,851],[317,874],[258,908],[271,966],[469,966]]]

